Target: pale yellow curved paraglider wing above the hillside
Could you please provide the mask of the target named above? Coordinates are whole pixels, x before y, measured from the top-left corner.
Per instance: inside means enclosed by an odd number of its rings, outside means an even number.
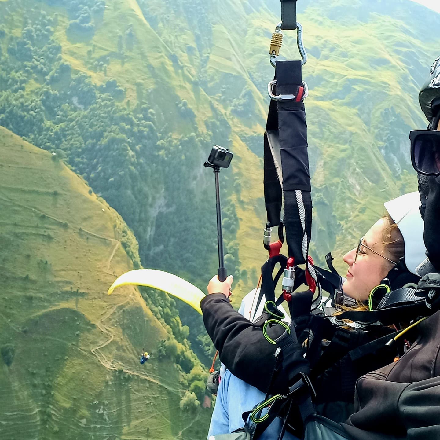
[[[162,290],[186,302],[202,315],[200,301],[205,297],[205,294],[202,290],[191,284],[191,282],[187,282],[177,275],[156,269],[136,269],[129,271],[115,280],[108,290],[109,295],[117,287],[121,286],[147,286]]]

